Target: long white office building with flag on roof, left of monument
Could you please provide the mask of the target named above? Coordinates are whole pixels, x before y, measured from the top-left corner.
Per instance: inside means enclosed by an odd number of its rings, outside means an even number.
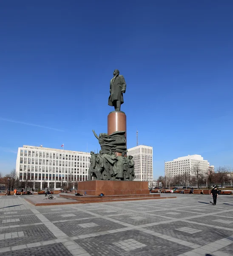
[[[30,181],[34,188],[60,188],[67,182],[88,180],[91,155],[86,152],[23,145],[18,148],[17,176]]]

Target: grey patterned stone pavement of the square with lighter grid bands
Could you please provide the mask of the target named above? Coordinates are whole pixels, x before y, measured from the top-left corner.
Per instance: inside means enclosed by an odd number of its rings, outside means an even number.
[[[209,201],[178,194],[35,207],[0,196],[0,256],[232,256],[233,196]]]

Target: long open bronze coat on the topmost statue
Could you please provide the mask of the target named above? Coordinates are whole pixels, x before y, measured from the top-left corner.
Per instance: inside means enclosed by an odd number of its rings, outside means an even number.
[[[123,93],[121,91],[126,90],[126,83],[124,76],[122,75],[117,75],[114,76],[113,79],[110,81],[110,96],[108,98],[108,105],[113,106],[114,100],[119,100],[121,101],[121,104],[124,103],[123,100]]]

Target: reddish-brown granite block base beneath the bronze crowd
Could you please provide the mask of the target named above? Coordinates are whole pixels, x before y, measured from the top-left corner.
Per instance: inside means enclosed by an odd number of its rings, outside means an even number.
[[[147,181],[90,180],[78,183],[77,193],[83,195],[149,195]]]

